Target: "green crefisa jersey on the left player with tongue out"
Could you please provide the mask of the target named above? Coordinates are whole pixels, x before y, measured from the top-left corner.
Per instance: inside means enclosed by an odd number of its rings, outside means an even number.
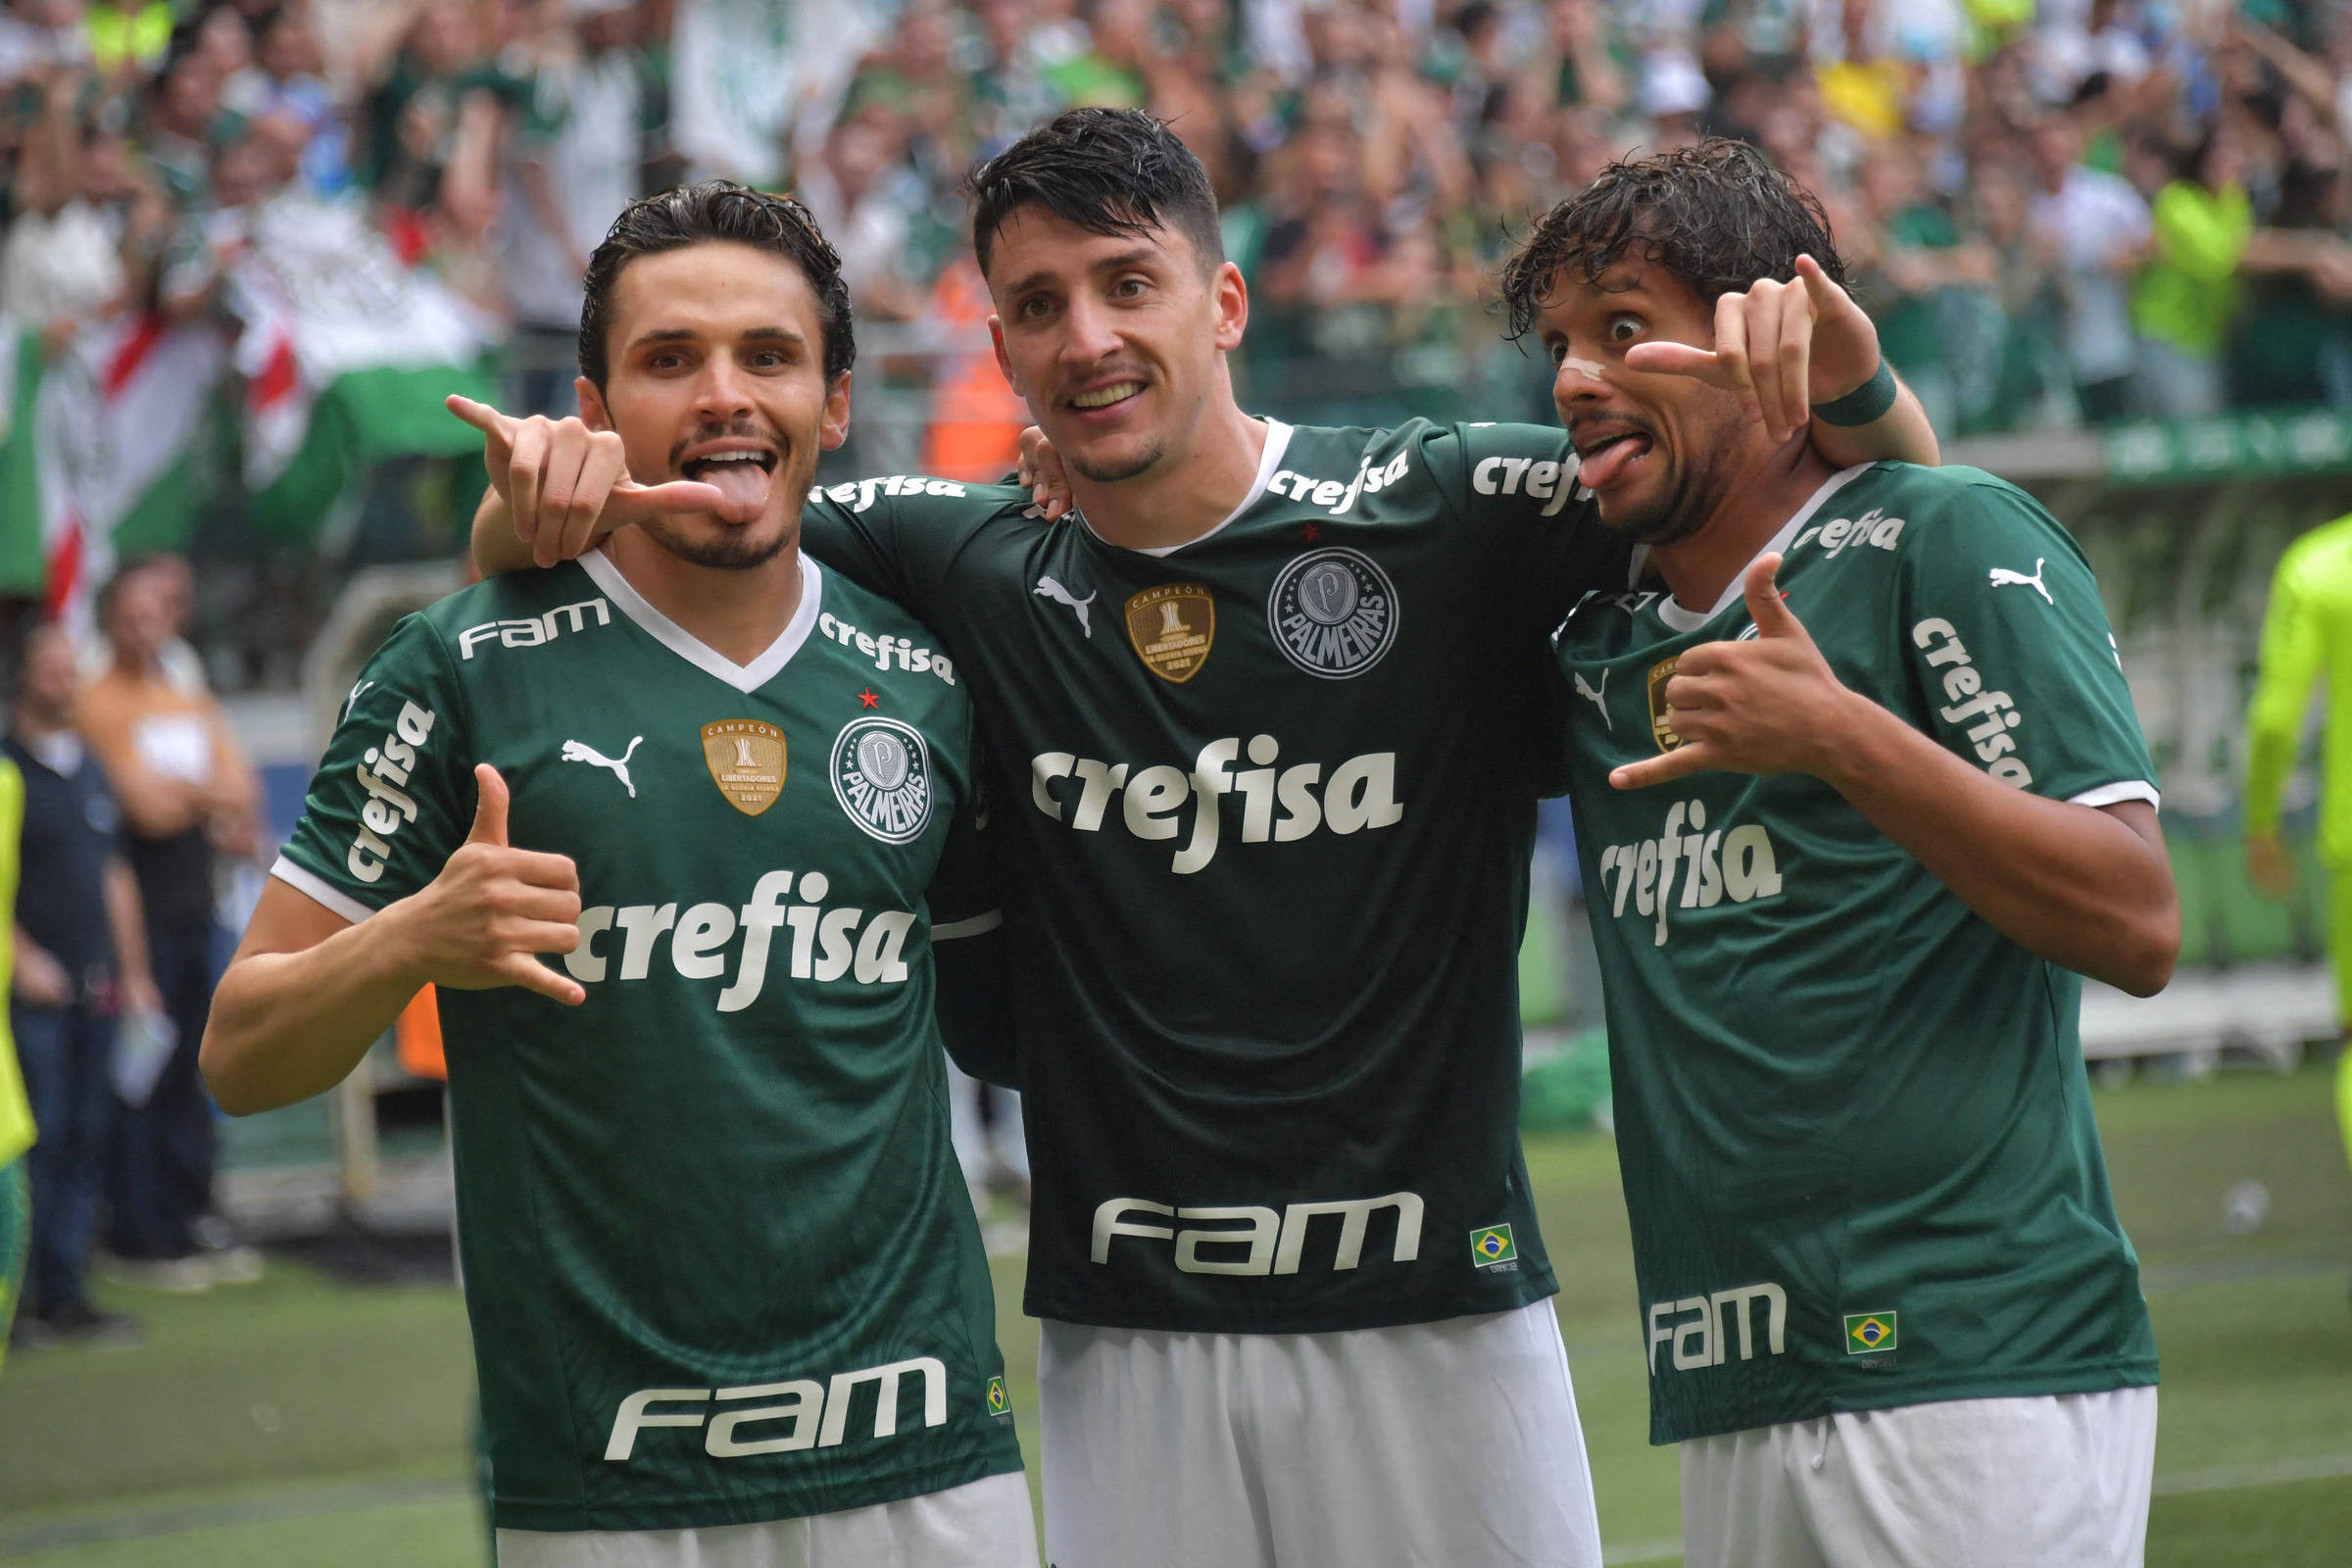
[[[870,646],[821,635],[854,621]],[[367,665],[275,875],[365,919],[463,844],[572,856],[588,992],[440,992],[492,1519],[755,1523],[1021,1467],[948,1145],[931,940],[993,924],[971,703],[802,564],[734,665],[602,555],[449,595]]]

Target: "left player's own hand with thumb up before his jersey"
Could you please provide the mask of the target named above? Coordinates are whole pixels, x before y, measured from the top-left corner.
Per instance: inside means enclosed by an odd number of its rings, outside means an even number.
[[[572,856],[515,849],[506,842],[506,780],[487,762],[473,771],[482,799],[473,832],[414,898],[402,936],[416,945],[416,969],[452,990],[527,985],[579,1006],[588,992],[539,961],[541,952],[581,945],[581,877]]]

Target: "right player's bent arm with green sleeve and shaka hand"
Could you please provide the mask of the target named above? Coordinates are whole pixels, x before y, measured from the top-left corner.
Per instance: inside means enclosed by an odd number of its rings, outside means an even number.
[[[1613,783],[1811,773],[2009,940],[2154,994],[2180,903],[2098,583],[2023,491],[1938,470],[1912,494],[1898,646],[1877,651],[1907,665],[1910,712],[1837,679],[1766,555],[1745,583],[1757,637],[1682,656],[1665,701],[1684,745]]]

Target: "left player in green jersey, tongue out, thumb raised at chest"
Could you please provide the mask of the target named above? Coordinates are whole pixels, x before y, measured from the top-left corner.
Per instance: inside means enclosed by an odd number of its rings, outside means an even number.
[[[506,1568],[1037,1561],[934,1025],[1000,924],[971,686],[797,548],[851,353],[795,202],[621,214],[579,395],[677,477],[393,630],[214,1001],[249,1112],[440,987]]]

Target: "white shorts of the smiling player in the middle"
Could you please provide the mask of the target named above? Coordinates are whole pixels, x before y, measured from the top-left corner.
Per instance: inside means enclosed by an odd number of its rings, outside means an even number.
[[[1348,1333],[1044,1324],[1054,1568],[1599,1568],[1552,1302]]]

